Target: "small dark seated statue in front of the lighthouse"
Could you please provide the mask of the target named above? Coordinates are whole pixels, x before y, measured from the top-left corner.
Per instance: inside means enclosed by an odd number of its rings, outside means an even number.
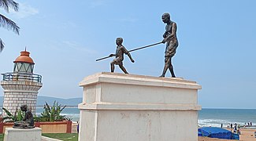
[[[21,105],[20,110],[25,112],[22,121],[14,122],[13,128],[35,128],[33,114],[27,109],[27,105]]]

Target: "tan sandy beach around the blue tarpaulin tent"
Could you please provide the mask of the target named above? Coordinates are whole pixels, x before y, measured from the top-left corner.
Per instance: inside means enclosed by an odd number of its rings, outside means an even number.
[[[241,135],[240,135],[240,141],[256,141],[256,138],[254,136],[254,132],[256,132],[256,128],[241,128]],[[233,139],[215,139],[215,138],[207,138],[198,136],[198,141],[231,141]]]

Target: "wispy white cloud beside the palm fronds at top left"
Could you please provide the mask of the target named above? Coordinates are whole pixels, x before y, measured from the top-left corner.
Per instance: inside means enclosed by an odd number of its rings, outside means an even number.
[[[31,5],[24,3],[19,3],[19,11],[15,12],[13,9],[9,11],[13,16],[16,16],[18,19],[26,18],[39,13],[38,9],[33,8]]]

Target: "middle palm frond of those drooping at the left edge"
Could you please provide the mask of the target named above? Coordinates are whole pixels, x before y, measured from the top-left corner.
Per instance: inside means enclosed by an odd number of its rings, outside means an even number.
[[[13,20],[9,20],[2,14],[0,14],[0,27],[6,27],[8,30],[13,30],[16,34],[20,34],[20,27]]]

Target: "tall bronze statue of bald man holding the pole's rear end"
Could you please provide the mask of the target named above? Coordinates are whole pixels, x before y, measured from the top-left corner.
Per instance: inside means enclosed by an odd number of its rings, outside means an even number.
[[[165,48],[165,67],[160,77],[165,77],[165,73],[169,69],[169,71],[172,74],[172,78],[176,78],[173,71],[172,57],[175,55],[176,49],[179,45],[176,37],[177,25],[175,22],[171,20],[169,13],[164,13],[161,16],[161,20],[166,24],[165,34],[163,34],[164,40],[162,41],[162,43],[166,42],[166,48]]]

